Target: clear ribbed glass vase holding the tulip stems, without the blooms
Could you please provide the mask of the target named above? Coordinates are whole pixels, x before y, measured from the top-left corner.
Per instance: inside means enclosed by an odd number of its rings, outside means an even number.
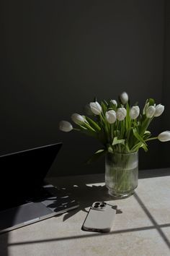
[[[109,195],[128,197],[138,187],[138,152],[107,153],[105,157],[105,184]]]

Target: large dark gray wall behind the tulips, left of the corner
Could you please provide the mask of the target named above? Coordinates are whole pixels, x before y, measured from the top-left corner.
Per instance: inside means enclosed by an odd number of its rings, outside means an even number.
[[[58,122],[84,114],[94,95],[161,102],[164,1],[6,0],[1,17],[1,154],[62,141],[51,175],[104,172],[104,159],[82,164],[99,143]],[[140,169],[161,166],[158,147],[140,150]]]

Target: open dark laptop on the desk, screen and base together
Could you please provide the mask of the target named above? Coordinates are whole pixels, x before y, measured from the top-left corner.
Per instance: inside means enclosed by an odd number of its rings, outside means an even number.
[[[45,183],[61,145],[0,156],[0,233],[79,207],[63,189]]]

